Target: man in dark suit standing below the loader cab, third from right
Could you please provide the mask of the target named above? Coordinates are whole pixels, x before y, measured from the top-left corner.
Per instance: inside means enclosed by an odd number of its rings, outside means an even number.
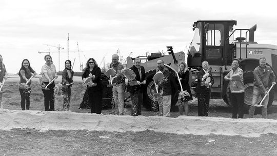
[[[209,63],[202,62],[202,69],[197,73],[196,95],[198,102],[198,116],[208,116],[210,105],[211,86],[214,83],[211,71],[208,69]],[[206,75],[205,75],[206,74]],[[210,79],[210,82],[206,82]]]

